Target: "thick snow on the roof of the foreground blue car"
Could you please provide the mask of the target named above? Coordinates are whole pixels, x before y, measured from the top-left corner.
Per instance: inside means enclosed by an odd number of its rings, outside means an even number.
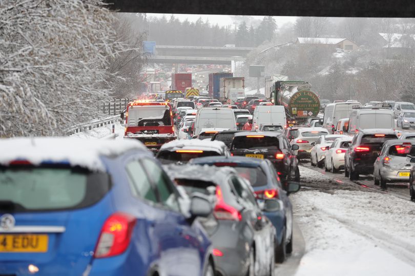
[[[26,160],[34,165],[43,162],[69,163],[91,171],[106,171],[102,156],[117,156],[129,151],[148,152],[136,139],[107,140],[69,137],[34,137],[0,139],[0,164]]]

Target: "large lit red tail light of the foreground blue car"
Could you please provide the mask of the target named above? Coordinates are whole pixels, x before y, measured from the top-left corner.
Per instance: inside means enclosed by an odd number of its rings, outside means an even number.
[[[126,251],[130,244],[136,218],[123,213],[111,215],[104,223],[95,247],[95,258],[106,258]]]

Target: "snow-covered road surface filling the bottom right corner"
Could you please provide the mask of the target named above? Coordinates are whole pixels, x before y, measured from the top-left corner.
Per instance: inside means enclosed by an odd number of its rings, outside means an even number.
[[[296,276],[415,274],[411,202],[380,193],[330,192],[292,196],[306,241]]]

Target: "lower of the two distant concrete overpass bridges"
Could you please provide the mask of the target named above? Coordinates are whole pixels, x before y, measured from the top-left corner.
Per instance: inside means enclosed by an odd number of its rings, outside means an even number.
[[[229,65],[232,61],[245,61],[244,57],[200,57],[200,56],[150,56],[149,63],[179,63],[185,64],[212,64],[212,65]]]

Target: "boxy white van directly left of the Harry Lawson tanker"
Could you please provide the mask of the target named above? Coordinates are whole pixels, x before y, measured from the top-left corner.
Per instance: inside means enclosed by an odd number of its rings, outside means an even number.
[[[279,124],[283,128],[287,125],[285,110],[282,105],[258,105],[254,109],[252,130],[260,129],[261,124]]]

